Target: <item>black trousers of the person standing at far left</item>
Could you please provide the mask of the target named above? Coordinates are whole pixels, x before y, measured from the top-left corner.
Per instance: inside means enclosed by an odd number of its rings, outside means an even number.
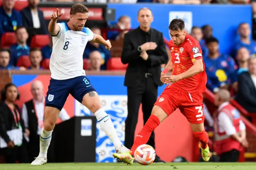
[[[28,153],[25,140],[22,142],[21,146],[4,148],[3,152],[6,164],[14,164],[16,163],[16,160],[18,160],[19,163],[28,163]]]

